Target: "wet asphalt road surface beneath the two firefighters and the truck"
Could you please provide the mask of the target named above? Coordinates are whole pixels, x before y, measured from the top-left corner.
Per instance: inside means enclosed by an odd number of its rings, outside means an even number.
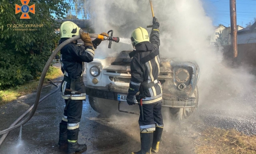
[[[41,97],[55,89],[55,86],[49,84],[43,88]],[[168,109],[163,108],[164,131],[158,154],[193,154],[194,140],[200,136],[200,131],[208,126],[237,128],[245,133],[255,134],[255,92],[256,88],[240,98],[225,100],[225,105],[221,101],[211,104],[211,107],[209,104],[200,105],[196,120],[182,125],[171,121]],[[35,93],[32,93],[21,96],[11,103],[0,105],[0,130],[8,128],[34,104],[34,99]],[[117,102],[115,106],[117,108]],[[57,144],[59,123],[64,107],[60,90],[44,99],[39,104],[34,117],[22,126],[20,144],[18,144],[20,129],[15,129],[8,134],[0,146],[0,154],[66,154],[66,149],[59,149]],[[122,104],[121,109],[139,112],[138,106],[128,106],[126,103]],[[83,101],[78,140],[79,143],[87,144],[87,151],[76,154],[131,154],[131,151],[139,150],[138,118],[138,115],[126,113],[104,117],[90,107],[87,96],[86,101]]]

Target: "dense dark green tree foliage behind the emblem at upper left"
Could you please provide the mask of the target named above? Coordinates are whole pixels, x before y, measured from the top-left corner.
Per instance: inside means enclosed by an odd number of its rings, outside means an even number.
[[[63,0],[30,0],[28,5],[35,4],[35,14],[29,12],[30,19],[20,19],[22,13],[15,15],[15,4],[22,5],[20,0],[0,3],[0,89],[16,87],[41,75],[58,39],[54,29],[60,25],[53,14],[62,18],[69,9]],[[27,24],[43,26],[25,27]]]

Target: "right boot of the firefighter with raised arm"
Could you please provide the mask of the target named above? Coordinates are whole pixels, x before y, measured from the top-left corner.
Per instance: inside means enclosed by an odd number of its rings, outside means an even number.
[[[160,126],[155,127],[153,143],[151,147],[151,151],[154,153],[158,153],[162,132],[163,132],[163,127],[160,127]]]

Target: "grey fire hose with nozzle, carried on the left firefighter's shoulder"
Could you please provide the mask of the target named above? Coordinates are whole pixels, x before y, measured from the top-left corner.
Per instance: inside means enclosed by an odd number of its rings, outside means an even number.
[[[119,42],[119,37],[113,37],[113,30],[109,30],[109,32],[108,32],[108,34],[111,32],[111,34],[109,35],[109,37],[105,37],[105,36],[102,36],[102,35],[98,35],[98,34],[89,34],[90,35],[90,37],[91,38],[98,38],[98,39],[102,39],[102,40],[109,40],[109,48],[111,48],[111,44],[112,44],[112,41],[114,41],[114,42]],[[21,125],[23,125],[23,124],[25,124],[26,122],[28,122],[30,119],[31,119],[31,117],[33,117],[33,115],[34,115],[34,113],[36,112],[36,110],[37,110],[37,107],[38,107],[38,104],[39,104],[39,99],[40,99],[40,95],[41,95],[41,90],[42,90],[42,86],[43,86],[43,83],[44,83],[44,80],[45,80],[45,75],[46,75],[46,73],[47,73],[47,70],[49,69],[49,66],[51,65],[51,63],[53,62],[53,59],[55,58],[55,56],[57,55],[57,53],[60,51],[60,49],[61,48],[63,48],[65,45],[67,45],[67,44],[69,44],[69,43],[71,43],[71,42],[73,42],[73,41],[75,41],[75,40],[79,40],[80,39],[80,36],[78,35],[78,36],[75,36],[75,37],[72,37],[72,38],[70,38],[70,39],[68,39],[68,40],[65,40],[62,44],[60,44],[54,51],[53,51],[53,53],[52,53],[52,55],[50,55],[50,57],[49,57],[49,59],[48,59],[48,61],[46,62],[46,64],[45,64],[45,67],[44,67],[44,69],[43,69],[43,71],[42,71],[42,73],[41,73],[41,77],[40,77],[40,79],[39,79],[39,84],[38,84],[38,91],[37,91],[37,93],[36,93],[36,99],[35,99],[35,103],[34,103],[34,105],[33,105],[33,108],[32,108],[32,110],[31,110],[31,112],[30,112],[30,114],[29,114],[29,116],[28,117],[26,117],[26,119],[25,120],[23,120],[23,121],[21,121],[19,124],[14,124],[14,123],[18,123],[18,119],[9,127],[9,128],[7,128],[7,129],[5,129],[5,130],[3,130],[3,131],[0,131],[0,135],[2,135],[2,134],[6,134],[6,133],[8,133],[8,132],[10,132],[10,131],[12,131],[12,130],[14,130],[14,129],[16,129],[16,128],[19,128]],[[32,107],[32,106],[31,106]],[[28,111],[29,112],[29,111]],[[28,113],[27,112],[27,113]],[[25,112],[26,113],[26,112]],[[24,113],[24,114],[25,114]],[[26,113],[26,114],[27,114]],[[25,115],[26,115],[25,114]],[[24,116],[25,116],[24,115]],[[24,117],[23,116],[23,117]],[[21,120],[22,118],[19,118],[19,120]],[[7,136],[7,134],[6,135],[3,135],[2,136],[2,138],[4,137],[6,137]],[[3,142],[3,140],[4,140],[4,138],[3,139],[0,139],[0,145],[1,145],[1,143]]]

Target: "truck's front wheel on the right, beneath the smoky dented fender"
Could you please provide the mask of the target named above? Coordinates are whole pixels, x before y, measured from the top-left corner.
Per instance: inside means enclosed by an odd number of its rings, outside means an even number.
[[[172,117],[180,122],[191,121],[196,117],[197,107],[198,107],[198,88],[196,86],[191,97],[196,98],[196,105],[192,108],[169,108]]]

